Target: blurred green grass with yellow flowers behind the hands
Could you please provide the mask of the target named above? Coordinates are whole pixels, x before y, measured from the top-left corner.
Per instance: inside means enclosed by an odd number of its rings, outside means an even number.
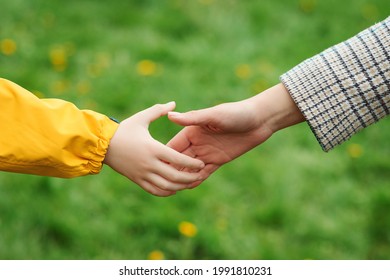
[[[123,119],[248,98],[383,20],[388,0],[13,0],[0,77]],[[103,168],[0,173],[0,259],[389,259],[390,119],[324,153],[286,129],[191,191],[153,197]],[[181,128],[151,126],[167,142]]]

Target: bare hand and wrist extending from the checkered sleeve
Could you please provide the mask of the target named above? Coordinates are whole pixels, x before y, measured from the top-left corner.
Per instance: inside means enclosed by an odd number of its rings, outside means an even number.
[[[200,172],[202,180],[277,130],[304,120],[282,84],[239,102],[187,113],[169,112],[168,118],[186,127],[167,145],[203,161],[206,166]]]

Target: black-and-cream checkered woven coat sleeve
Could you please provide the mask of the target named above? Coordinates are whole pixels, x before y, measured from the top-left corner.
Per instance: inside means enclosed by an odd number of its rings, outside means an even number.
[[[324,151],[389,115],[390,17],[280,77]]]

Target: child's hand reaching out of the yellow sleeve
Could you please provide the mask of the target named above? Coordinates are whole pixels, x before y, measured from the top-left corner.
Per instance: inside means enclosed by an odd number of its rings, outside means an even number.
[[[201,180],[198,171],[204,167],[202,161],[183,155],[150,135],[149,124],[174,108],[174,102],[157,104],[121,122],[104,160],[115,171],[157,196],[175,194]]]

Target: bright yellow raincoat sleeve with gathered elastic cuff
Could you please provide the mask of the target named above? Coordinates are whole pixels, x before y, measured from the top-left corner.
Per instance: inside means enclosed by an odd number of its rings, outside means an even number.
[[[100,172],[118,124],[0,79],[0,170],[71,178]]]

